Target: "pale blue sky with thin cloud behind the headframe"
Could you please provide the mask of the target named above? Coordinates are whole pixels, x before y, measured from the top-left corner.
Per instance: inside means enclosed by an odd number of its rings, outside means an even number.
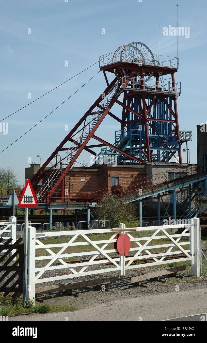
[[[131,42],[142,42],[160,55],[177,56],[177,37],[164,36],[165,26],[190,28],[189,38],[178,37],[181,82],[177,100],[179,129],[192,131],[190,162],[196,163],[196,125],[206,123],[207,3],[205,0],[0,0],[0,120],[29,104],[52,88]],[[105,29],[105,34],[102,34]],[[31,34],[28,34],[28,30]],[[29,31],[30,32],[30,31]],[[68,67],[65,66],[68,61]],[[99,64],[66,82],[35,103],[0,121],[8,133],[0,132],[0,151],[47,116],[99,71]],[[110,76],[111,77],[111,76]],[[109,77],[109,79],[110,79]],[[14,169],[20,185],[24,168],[31,162],[42,164],[69,130],[86,113],[106,88],[99,72],[90,82],[44,119],[33,130],[0,153],[0,167]],[[28,98],[31,93],[31,98]],[[118,106],[118,105],[117,105]],[[114,114],[120,116],[121,107]],[[120,127],[106,117],[96,135],[112,144]],[[0,131],[1,126],[0,126]],[[186,153],[182,159],[186,162]],[[80,163],[90,165],[90,154],[83,153]],[[76,164],[81,166],[81,164]]]

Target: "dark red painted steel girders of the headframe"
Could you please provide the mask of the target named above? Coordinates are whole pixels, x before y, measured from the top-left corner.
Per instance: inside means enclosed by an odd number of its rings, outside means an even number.
[[[125,77],[122,74],[123,68],[125,70],[130,71],[130,73],[127,77]],[[110,65],[101,67],[100,70],[103,71],[104,78],[105,78],[106,83],[107,83],[106,89],[98,97],[98,99],[94,102],[94,104],[89,108],[89,110],[82,116],[82,118],[78,121],[78,123],[75,125],[75,127],[66,135],[66,137],[63,139],[63,141],[59,144],[59,146],[57,146],[55,151],[50,155],[50,157],[47,159],[47,161],[41,166],[41,168],[38,170],[38,172],[31,179],[31,184],[33,184],[33,188],[37,188],[37,185],[39,184],[41,179],[43,179],[43,181],[46,182],[47,177],[50,176],[50,172],[52,171],[52,167],[48,168],[47,170],[46,170],[46,167],[52,161],[53,158],[56,158],[56,161],[54,163],[54,167],[57,167],[57,165],[59,165],[60,161],[57,162],[57,155],[60,151],[64,151],[64,150],[65,151],[70,150],[71,152],[75,151],[74,156],[72,157],[72,159],[70,160],[68,165],[66,165],[66,167],[62,170],[61,174],[59,172],[57,173],[58,178],[55,178],[55,180],[53,182],[52,182],[52,180],[50,180],[51,186],[49,186],[49,182],[48,182],[48,191],[45,193],[46,195],[44,195],[44,197],[43,197],[44,201],[46,201],[46,198],[50,201],[50,198],[53,197],[54,192],[57,190],[57,187],[59,187],[60,185],[61,185],[62,191],[64,191],[65,176],[68,173],[69,169],[74,165],[78,156],[80,155],[80,153],[83,150],[86,150],[86,151],[88,151],[94,155],[95,152],[93,150],[91,150],[90,148],[99,147],[99,146],[108,146],[108,147],[111,147],[112,149],[114,149],[118,152],[121,152],[123,155],[126,155],[127,157],[131,158],[134,161],[137,161],[141,164],[144,162],[144,161],[138,159],[137,157],[135,157],[135,156],[121,150],[120,148],[112,145],[111,143],[103,140],[102,138],[99,138],[99,137],[94,135],[95,131],[101,125],[102,121],[107,116],[107,114],[121,124],[121,130],[123,130],[125,127],[127,127],[127,125],[129,123],[133,123],[133,122],[137,122],[137,121],[140,121],[140,123],[143,123],[143,125],[145,127],[146,139],[145,139],[144,146],[142,146],[142,151],[147,156],[147,162],[152,161],[152,151],[150,150],[148,125],[152,126],[151,122],[153,122],[153,121],[158,121],[160,123],[161,122],[166,122],[166,123],[171,122],[172,125],[174,124],[173,125],[174,126],[173,131],[177,135],[177,140],[178,140],[178,145],[179,145],[179,152],[178,152],[179,153],[179,162],[180,163],[182,162],[182,160],[181,160],[181,144],[180,144],[179,127],[178,127],[177,103],[176,103],[177,98],[176,98],[176,95],[174,95],[174,94],[170,95],[171,98],[173,99],[173,104],[174,104],[174,111],[173,111],[171,106],[169,105],[169,103],[167,101],[169,94],[165,95],[164,92],[159,94],[159,89],[158,89],[158,82],[159,82],[160,74],[161,75],[171,74],[172,87],[173,87],[173,90],[175,91],[176,88],[175,88],[175,81],[174,81],[174,72],[177,72],[177,69],[176,68],[170,68],[170,67],[167,68],[167,67],[162,67],[162,66],[153,66],[153,65],[151,66],[151,65],[147,65],[147,64],[146,65],[143,64],[142,66],[139,66],[139,64],[136,64],[136,63],[128,63],[128,62],[123,61],[123,62],[116,62],[116,63],[112,63]],[[116,70],[116,75],[118,75],[118,76],[109,84],[107,76],[106,76],[106,71],[114,73],[114,70]],[[141,77],[141,88],[137,89],[136,91],[134,91],[133,88],[131,89],[128,87],[128,85],[130,85],[130,83],[129,83],[130,78],[133,78],[135,73],[138,73]],[[147,93],[147,90],[145,91],[144,75],[149,75],[150,73],[154,73],[154,77],[156,78],[156,87],[155,87],[156,89],[154,89],[154,91],[153,91],[153,88],[151,89],[150,94],[152,96],[152,93],[154,92],[154,96],[153,96],[153,98],[151,98],[151,102],[147,106],[146,95],[148,93]],[[112,94],[113,90],[115,89],[115,86],[117,87],[117,92],[114,93],[113,97],[110,98],[109,104],[107,102],[107,107],[105,105],[104,105],[105,107],[103,107],[101,105],[101,102],[103,100],[103,94],[104,95]],[[123,97],[123,102],[120,102],[118,100],[118,98],[122,92],[124,92],[124,97]],[[132,99],[133,99],[134,95],[136,96],[136,99],[137,99],[138,105],[140,107],[141,113],[136,112],[131,106]],[[150,110],[151,110],[151,108],[152,108],[152,106],[153,106],[153,104],[154,104],[154,102],[158,96],[159,97],[161,96],[161,98],[164,100],[167,108],[169,109],[169,111],[171,112],[171,114],[173,116],[173,119],[169,119],[169,117],[168,117],[168,119],[155,119],[152,117],[152,115],[150,118],[148,117]],[[141,101],[140,101],[140,99],[141,99]],[[141,102],[142,102],[142,104],[141,104]],[[113,113],[111,113],[111,108],[115,103],[122,106],[122,117],[121,117],[121,119],[118,118],[117,116],[115,116]],[[91,130],[90,130],[90,126],[89,126],[88,136],[86,138],[84,138],[83,142],[81,140],[81,142],[79,143],[76,141],[76,135],[78,132],[80,133],[81,130],[83,132],[83,128],[86,125],[86,120],[89,116],[92,116],[94,114],[95,108],[100,108],[101,116]],[[137,119],[127,121],[128,111],[130,111],[131,113],[136,115]],[[156,132],[154,127],[153,127],[153,130]],[[156,132],[156,134],[158,135],[157,132]],[[98,140],[102,144],[87,145],[91,138]],[[165,145],[169,149],[169,152],[172,155],[174,155],[174,153],[167,146],[166,141],[164,141],[161,137],[160,137],[160,139],[163,141],[162,147]],[[73,142],[75,144],[75,147],[71,147],[69,149],[64,147],[64,145],[67,142]],[[62,158],[62,160],[64,160],[64,158]],[[59,170],[59,169],[57,169],[57,170]],[[49,181],[49,179],[48,179],[48,181]],[[42,182],[42,184],[44,184],[44,182]],[[62,201],[63,201],[63,199],[64,199],[64,197],[62,197]],[[87,199],[87,196],[86,196],[86,199]]]

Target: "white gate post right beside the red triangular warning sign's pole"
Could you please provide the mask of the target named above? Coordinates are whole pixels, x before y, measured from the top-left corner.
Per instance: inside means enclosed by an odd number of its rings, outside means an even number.
[[[35,227],[28,226],[26,300],[35,297]]]

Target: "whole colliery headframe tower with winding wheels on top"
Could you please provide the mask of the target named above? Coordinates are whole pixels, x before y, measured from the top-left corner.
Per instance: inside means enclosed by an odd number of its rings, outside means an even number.
[[[99,67],[106,89],[31,179],[34,188],[42,179],[42,191],[64,190],[65,176],[80,153],[86,150],[95,155],[94,147],[101,147],[102,156],[116,154],[118,164],[169,162],[176,153],[177,162],[182,163],[177,111],[180,82],[174,80],[178,58],[154,56],[146,45],[134,42],[99,57]],[[106,72],[115,74],[111,83]],[[121,118],[112,113],[115,103],[122,107]],[[114,144],[95,135],[107,115],[119,123]],[[98,142],[89,145],[91,138]],[[45,170],[53,158],[54,169]]]

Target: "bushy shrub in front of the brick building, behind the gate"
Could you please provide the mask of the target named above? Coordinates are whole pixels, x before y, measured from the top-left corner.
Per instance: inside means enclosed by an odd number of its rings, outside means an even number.
[[[127,202],[127,199],[124,195],[104,194],[104,197],[95,206],[96,218],[109,220],[113,227],[119,227],[120,223],[129,226],[136,221],[137,208],[132,202]]]

